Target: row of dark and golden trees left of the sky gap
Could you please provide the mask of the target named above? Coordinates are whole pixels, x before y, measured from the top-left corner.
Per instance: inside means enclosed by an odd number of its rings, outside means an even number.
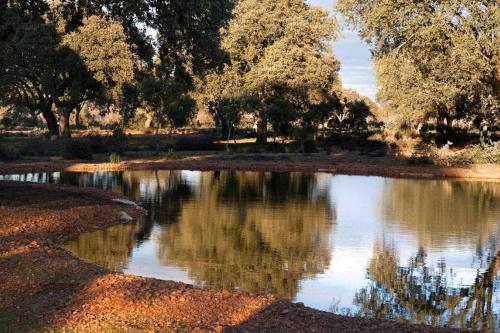
[[[370,113],[342,90],[336,21],[303,0],[9,0],[0,15],[0,101],[52,137],[89,106],[121,128],[140,112],[156,131],[201,110],[229,137],[250,116],[260,142]]]

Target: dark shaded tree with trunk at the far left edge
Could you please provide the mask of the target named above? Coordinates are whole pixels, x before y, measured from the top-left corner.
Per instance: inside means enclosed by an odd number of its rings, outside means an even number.
[[[0,30],[9,31],[0,45],[2,77],[0,100],[3,104],[39,111],[51,135],[61,130],[69,135],[69,113],[81,96],[95,86],[80,57],[61,44],[55,27],[42,18],[23,18],[15,6],[0,19]],[[22,55],[22,56],[20,56]]]

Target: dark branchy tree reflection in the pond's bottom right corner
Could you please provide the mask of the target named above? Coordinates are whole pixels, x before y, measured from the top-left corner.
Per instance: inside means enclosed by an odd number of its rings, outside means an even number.
[[[355,297],[358,315],[433,326],[500,328],[500,313],[494,304],[499,292],[500,254],[488,258],[488,268],[477,272],[471,286],[457,286],[446,262],[441,261],[437,269],[429,267],[423,249],[408,266],[400,267],[394,249],[377,247],[368,266],[371,283]]]

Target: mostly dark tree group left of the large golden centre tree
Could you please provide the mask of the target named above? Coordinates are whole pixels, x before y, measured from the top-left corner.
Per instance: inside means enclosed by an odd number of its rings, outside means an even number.
[[[221,63],[231,8],[230,0],[2,2],[0,105],[42,114],[54,137],[70,136],[70,116],[87,102],[119,109],[122,127],[142,103],[159,108],[149,110],[158,125],[183,126],[194,110],[192,76]],[[141,99],[136,81],[148,76],[161,82],[157,101]]]

